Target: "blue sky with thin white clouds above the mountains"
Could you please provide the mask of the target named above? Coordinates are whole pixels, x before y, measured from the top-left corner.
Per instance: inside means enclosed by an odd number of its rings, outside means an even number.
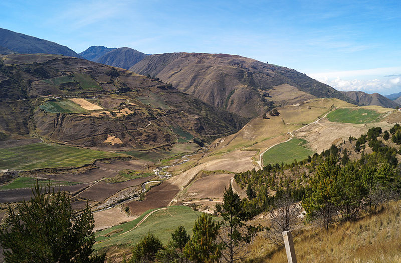
[[[401,91],[399,1],[0,2],[0,27],[66,45],[229,53],[340,90]]]

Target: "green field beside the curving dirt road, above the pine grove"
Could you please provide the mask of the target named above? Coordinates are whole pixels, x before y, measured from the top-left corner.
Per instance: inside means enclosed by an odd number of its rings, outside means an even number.
[[[291,139],[288,142],[278,144],[263,155],[263,165],[267,164],[290,164],[294,159],[301,161],[312,156],[314,152],[302,147],[306,141],[300,139]]]

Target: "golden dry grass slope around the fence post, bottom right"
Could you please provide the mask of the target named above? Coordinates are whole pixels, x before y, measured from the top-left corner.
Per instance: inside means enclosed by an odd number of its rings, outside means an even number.
[[[300,262],[401,262],[401,201],[392,202],[380,212],[345,222],[326,232],[305,230],[294,239]],[[253,262],[287,262],[285,249],[277,249],[259,239],[254,243],[263,258]],[[275,251],[275,249],[277,251]],[[269,255],[270,254],[270,255]]]

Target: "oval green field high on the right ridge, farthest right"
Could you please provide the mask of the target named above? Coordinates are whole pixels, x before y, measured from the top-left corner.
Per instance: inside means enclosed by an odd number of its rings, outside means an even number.
[[[333,122],[343,123],[368,123],[373,122],[380,116],[375,110],[364,108],[336,109],[327,115],[327,119]]]

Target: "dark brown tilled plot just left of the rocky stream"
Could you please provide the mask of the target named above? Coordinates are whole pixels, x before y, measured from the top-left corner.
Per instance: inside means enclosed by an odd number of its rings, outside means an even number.
[[[144,182],[146,182],[147,180],[151,179],[152,177],[153,176],[147,176],[147,177],[137,178],[137,179],[120,182],[120,183],[114,183],[114,184],[99,182],[99,183],[95,184],[94,186],[79,193],[79,196],[89,199],[89,200],[103,202],[108,197],[115,195],[122,189],[131,187],[131,186],[141,185]]]

